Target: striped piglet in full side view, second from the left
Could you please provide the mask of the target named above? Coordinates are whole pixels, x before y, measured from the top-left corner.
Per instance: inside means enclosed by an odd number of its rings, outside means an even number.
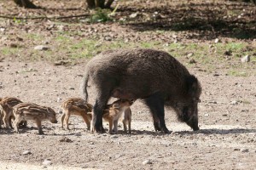
[[[33,121],[38,126],[38,133],[44,134],[42,121],[57,123],[55,111],[49,107],[40,106],[32,103],[20,103],[14,107],[15,131],[19,133],[19,123],[21,121]]]

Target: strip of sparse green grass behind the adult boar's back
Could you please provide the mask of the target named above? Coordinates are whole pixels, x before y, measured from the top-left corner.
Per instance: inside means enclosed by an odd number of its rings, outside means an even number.
[[[59,23],[60,24],[60,23]],[[69,25],[67,25],[69,26]],[[76,25],[78,26],[78,25]],[[146,35],[172,35],[172,31],[145,31]],[[8,39],[14,39],[9,36]],[[44,34],[20,33],[17,47],[2,47],[3,58],[19,57],[31,61],[48,60],[55,62],[65,60],[77,63],[79,59],[90,59],[102,51],[114,48],[155,48],[168,52],[184,65],[199,67],[204,71],[213,72],[218,68],[226,69],[226,74],[234,77],[247,77],[256,74],[256,48],[250,42],[161,42],[151,40],[127,41],[125,38],[110,37],[109,41],[99,32],[84,37],[83,31],[55,31],[50,37]],[[26,43],[23,43],[26,42]],[[47,42],[47,43],[46,43]],[[21,45],[20,45],[21,44]],[[48,50],[35,50],[36,44],[49,46]],[[251,55],[249,63],[241,63],[241,57]]]

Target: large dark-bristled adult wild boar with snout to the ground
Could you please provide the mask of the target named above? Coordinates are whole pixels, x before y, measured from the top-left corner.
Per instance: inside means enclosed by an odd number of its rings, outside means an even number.
[[[166,52],[154,49],[108,50],[90,59],[82,85],[87,101],[90,79],[97,96],[92,129],[104,132],[102,113],[110,97],[143,99],[154,120],[154,129],[169,133],[164,106],[171,106],[178,120],[198,130],[197,104],[201,84],[197,78]]]

